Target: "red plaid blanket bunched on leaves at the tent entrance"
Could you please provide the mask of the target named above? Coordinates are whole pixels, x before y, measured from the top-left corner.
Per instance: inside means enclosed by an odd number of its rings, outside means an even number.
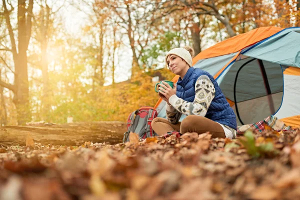
[[[282,129],[289,130],[290,129],[290,126],[285,125],[284,122],[277,119],[276,116],[270,115],[270,116],[266,117],[265,119],[258,121],[256,123],[237,126],[236,134],[243,135],[243,133],[249,129],[254,132],[255,131],[261,132],[264,130],[265,125],[268,125],[269,127],[273,128],[274,130],[282,130]]]

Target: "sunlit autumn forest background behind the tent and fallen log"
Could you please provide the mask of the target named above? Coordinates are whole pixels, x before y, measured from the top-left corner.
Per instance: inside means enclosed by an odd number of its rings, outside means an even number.
[[[155,104],[155,71],[173,77],[170,48],[197,54],[257,27],[300,26],[298,2],[1,0],[0,124],[125,121]]]

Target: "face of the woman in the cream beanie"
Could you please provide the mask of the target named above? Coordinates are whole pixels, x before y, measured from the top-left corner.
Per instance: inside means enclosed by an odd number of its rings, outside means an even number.
[[[169,69],[176,75],[180,75],[180,77],[181,75],[183,77],[189,68],[188,64],[177,55],[169,55],[166,59],[166,63]]]

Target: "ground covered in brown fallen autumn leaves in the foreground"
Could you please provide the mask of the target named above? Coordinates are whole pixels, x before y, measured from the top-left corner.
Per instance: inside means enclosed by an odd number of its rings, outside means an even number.
[[[299,199],[300,131],[0,148],[0,200]]]

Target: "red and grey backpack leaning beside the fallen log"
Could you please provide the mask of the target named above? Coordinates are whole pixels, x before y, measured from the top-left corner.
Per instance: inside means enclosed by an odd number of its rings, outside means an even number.
[[[130,113],[127,118],[127,131],[124,132],[123,142],[129,141],[130,132],[138,133],[138,138],[142,139],[157,135],[151,127],[151,121],[156,116],[156,109],[148,106],[142,106]]]

